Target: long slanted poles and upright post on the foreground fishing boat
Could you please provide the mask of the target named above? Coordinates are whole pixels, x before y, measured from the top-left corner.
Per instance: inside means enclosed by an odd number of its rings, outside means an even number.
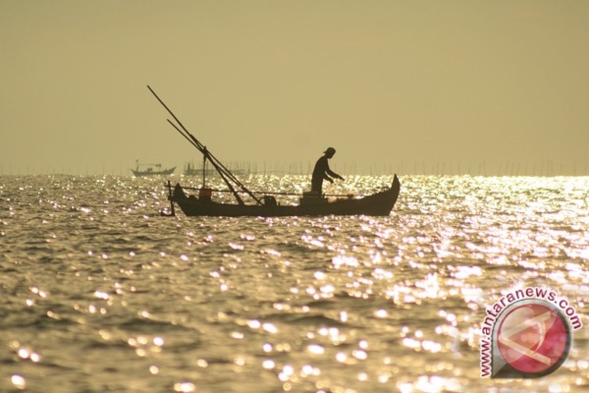
[[[176,120],[176,123],[178,123],[178,125],[180,125],[180,127],[182,128],[182,130],[180,130],[180,128],[178,128],[176,126],[176,124],[172,123],[170,121],[170,119],[167,119],[168,120],[168,123],[170,123],[174,128],[176,128],[176,130],[178,131],[178,133],[180,133],[184,138],[186,138],[194,147],[197,148],[198,151],[200,151],[200,153],[203,154],[203,186],[204,186],[204,164],[206,163],[206,160],[209,160],[209,162],[213,165],[214,169],[216,169],[217,172],[219,173],[219,176],[221,176],[221,179],[224,180],[225,184],[227,184],[227,187],[229,187],[229,189],[233,193],[233,196],[237,200],[237,203],[244,204],[243,203],[243,200],[241,200],[241,197],[239,196],[238,191],[236,191],[234,189],[233,184],[235,184],[242,191],[244,191],[250,197],[252,197],[252,199],[255,200],[257,204],[262,205],[262,202],[260,201],[260,199],[258,197],[256,197],[252,193],[252,191],[248,190],[247,187],[244,186],[244,184],[241,183],[241,181],[239,181],[237,179],[237,177],[235,177],[233,175],[233,173],[231,173],[231,171],[229,169],[227,169],[221,163],[221,161],[219,161],[217,159],[217,157],[215,157],[213,155],[213,153],[211,153],[209,150],[207,150],[207,148],[205,146],[203,146],[203,144],[200,143],[200,141],[198,141],[197,138],[194,137],[193,134],[191,134],[190,131],[188,131],[186,129],[186,127],[184,127],[184,124],[182,124],[181,121],[178,120],[178,118],[176,117],[176,115],[174,115],[174,113],[170,110],[170,108],[168,108],[167,105],[164,104],[164,101],[162,101],[161,98],[158,97],[157,94],[155,94],[155,91],[153,91],[153,89],[151,87],[149,87],[149,85],[147,86],[147,88],[151,91],[151,94],[153,94],[154,97],[157,98],[158,101],[160,101],[160,104],[163,105],[164,108],[166,108],[166,110],[168,111],[168,113],[170,113],[170,115],[174,118],[174,120]],[[231,184],[231,183],[233,183],[233,184]]]

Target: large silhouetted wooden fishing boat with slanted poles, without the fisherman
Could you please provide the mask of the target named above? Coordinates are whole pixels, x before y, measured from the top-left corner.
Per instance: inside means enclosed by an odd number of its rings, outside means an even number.
[[[217,171],[221,179],[227,186],[227,190],[212,190],[206,186],[206,170],[203,171],[203,184],[200,188],[182,187],[180,184],[172,187],[168,180],[168,200],[170,200],[171,214],[176,215],[174,211],[174,204],[178,204],[180,209],[187,216],[226,216],[226,217],[279,217],[279,216],[327,216],[333,215],[357,215],[365,214],[370,216],[388,216],[391,209],[395,206],[401,184],[399,178],[393,177],[391,187],[385,190],[378,191],[374,194],[354,198],[353,195],[340,195],[345,197],[343,199],[329,200],[326,194],[313,193],[311,191],[303,193],[299,199],[299,204],[296,206],[280,205],[276,202],[274,195],[300,195],[294,193],[276,193],[276,192],[252,192],[244,186],[237,177],[227,167],[225,167],[217,157],[213,155],[206,146],[197,140],[186,127],[178,120],[176,115],[172,113],[170,108],[155,94],[151,87],[147,87],[151,93],[160,101],[160,104],[170,113],[176,120],[173,123],[168,119],[176,131],[181,134],[190,144],[197,148],[203,154],[203,168],[206,169],[207,162],[210,163]],[[188,196],[184,190],[198,190],[198,197],[195,195]],[[237,203],[221,203],[214,202],[212,199],[213,192],[229,192],[233,193]],[[244,203],[241,194],[247,194],[254,203]],[[260,197],[262,194],[262,197]]]

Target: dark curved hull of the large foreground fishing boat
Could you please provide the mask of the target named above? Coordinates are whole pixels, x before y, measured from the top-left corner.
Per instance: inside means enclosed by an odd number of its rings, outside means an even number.
[[[217,203],[187,196],[179,184],[174,193],[168,197],[170,202],[178,204],[187,216],[214,217],[284,217],[284,216],[388,216],[399,196],[401,184],[395,175],[389,189],[362,197],[360,199],[342,199],[334,202],[310,203],[299,206],[260,206],[254,204]]]

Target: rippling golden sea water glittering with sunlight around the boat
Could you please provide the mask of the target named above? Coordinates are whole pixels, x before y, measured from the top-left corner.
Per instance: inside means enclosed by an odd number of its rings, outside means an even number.
[[[389,217],[273,219],[160,217],[164,180],[0,177],[0,391],[589,389],[586,328],[537,380],[481,379],[478,345],[518,286],[589,324],[587,177],[402,176]]]

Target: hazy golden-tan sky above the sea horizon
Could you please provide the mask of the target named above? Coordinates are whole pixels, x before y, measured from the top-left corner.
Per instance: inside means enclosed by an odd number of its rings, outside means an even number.
[[[0,1],[0,171],[589,174],[589,1]]]

